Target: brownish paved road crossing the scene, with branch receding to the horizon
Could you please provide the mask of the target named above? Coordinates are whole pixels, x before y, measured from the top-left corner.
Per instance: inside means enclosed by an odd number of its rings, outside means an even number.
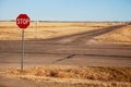
[[[131,66],[131,46],[90,44],[96,36],[119,29],[110,26],[47,40],[25,41],[25,65],[102,65]],[[0,67],[21,61],[21,41],[0,41]]]

